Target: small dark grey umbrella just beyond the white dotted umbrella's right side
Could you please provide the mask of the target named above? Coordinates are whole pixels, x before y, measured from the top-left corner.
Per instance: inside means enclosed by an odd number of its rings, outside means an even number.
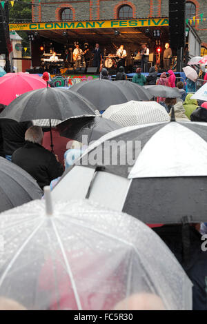
[[[144,85],[144,88],[152,94],[153,97],[180,98],[181,94],[177,88],[166,87],[166,85]]]

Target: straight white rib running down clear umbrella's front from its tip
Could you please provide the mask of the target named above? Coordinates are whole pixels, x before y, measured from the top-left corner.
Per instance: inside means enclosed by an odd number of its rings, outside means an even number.
[[[68,275],[70,276],[70,281],[72,283],[73,292],[75,294],[75,301],[77,303],[77,307],[79,308],[79,310],[82,310],[81,301],[79,299],[79,295],[78,295],[78,292],[77,292],[77,287],[76,287],[76,284],[75,284],[75,280],[74,280],[74,278],[72,276],[72,271],[71,271],[70,265],[68,263],[68,259],[67,259],[67,256],[66,256],[66,251],[65,251],[65,249],[63,247],[63,243],[61,242],[61,238],[60,238],[59,233],[57,231],[57,227],[55,226],[55,222],[52,219],[51,219],[51,221],[52,221],[53,229],[55,231],[55,235],[57,236],[57,241],[59,242],[59,246],[60,246],[61,252],[63,254],[63,260],[66,263],[66,268],[68,270]]]

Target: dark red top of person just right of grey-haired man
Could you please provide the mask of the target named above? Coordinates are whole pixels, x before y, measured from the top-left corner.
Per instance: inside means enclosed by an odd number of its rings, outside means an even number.
[[[52,128],[52,145],[53,152],[58,156],[58,161],[64,165],[64,154],[66,152],[66,145],[70,141],[66,137],[60,136],[57,128]],[[51,151],[51,139],[50,139],[50,131],[44,132],[43,136],[43,148]]]

